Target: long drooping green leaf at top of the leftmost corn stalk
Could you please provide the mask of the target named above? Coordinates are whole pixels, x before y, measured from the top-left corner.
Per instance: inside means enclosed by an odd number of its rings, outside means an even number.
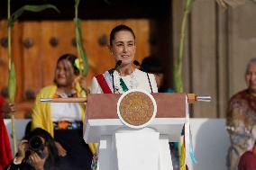
[[[13,13],[11,15],[11,17],[8,19],[8,27],[12,27],[14,25],[14,22],[25,12],[25,11],[29,11],[29,12],[33,12],[33,13],[38,13],[41,12],[43,10],[46,9],[54,9],[56,12],[59,13],[59,9],[52,4],[38,4],[38,5],[30,5],[30,4],[26,4],[23,5],[23,7],[21,7],[20,9],[18,9],[15,13]]]

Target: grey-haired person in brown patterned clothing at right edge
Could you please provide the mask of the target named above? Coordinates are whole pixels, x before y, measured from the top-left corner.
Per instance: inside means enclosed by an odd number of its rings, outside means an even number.
[[[226,130],[230,135],[227,166],[236,170],[239,158],[251,149],[256,137],[256,58],[251,58],[246,72],[247,89],[234,94],[228,103]]]

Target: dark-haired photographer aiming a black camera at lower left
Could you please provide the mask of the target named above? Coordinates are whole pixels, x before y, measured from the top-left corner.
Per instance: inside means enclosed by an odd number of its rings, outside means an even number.
[[[21,141],[14,161],[5,167],[5,170],[16,169],[62,169],[59,166],[58,150],[55,147],[54,139],[52,139],[46,130],[42,130],[41,128],[32,130],[32,132]]]

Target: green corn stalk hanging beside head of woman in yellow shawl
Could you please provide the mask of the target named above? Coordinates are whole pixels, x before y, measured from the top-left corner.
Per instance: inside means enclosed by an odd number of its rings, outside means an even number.
[[[83,76],[87,76],[89,64],[87,59],[87,53],[83,46],[83,38],[82,38],[82,31],[81,31],[81,22],[78,18],[78,6],[79,6],[80,0],[75,0],[75,31],[76,31],[76,40],[77,40],[77,49],[78,49],[78,58],[79,61],[82,61],[83,67],[79,67],[80,73],[82,73]]]

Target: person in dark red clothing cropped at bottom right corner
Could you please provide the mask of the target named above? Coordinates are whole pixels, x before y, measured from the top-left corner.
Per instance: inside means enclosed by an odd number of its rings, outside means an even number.
[[[242,154],[238,164],[238,170],[256,169],[256,140],[251,150]]]

